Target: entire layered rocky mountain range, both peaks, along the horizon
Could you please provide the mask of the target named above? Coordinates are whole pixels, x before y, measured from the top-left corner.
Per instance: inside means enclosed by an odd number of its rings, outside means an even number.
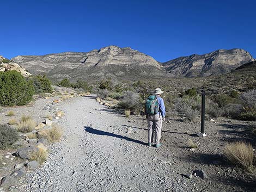
[[[17,56],[15,63],[33,75],[46,73],[53,80],[97,80],[103,77],[118,79],[198,77],[221,75],[254,61],[243,49],[220,49],[204,55],[193,54],[166,63],[131,49],[117,46],[94,49],[90,52],[65,52],[41,56]]]

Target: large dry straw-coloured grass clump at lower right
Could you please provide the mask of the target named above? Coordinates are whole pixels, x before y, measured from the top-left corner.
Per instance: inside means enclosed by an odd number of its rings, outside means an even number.
[[[249,168],[254,163],[252,145],[242,141],[236,141],[225,146],[224,155],[231,163],[243,168]]]

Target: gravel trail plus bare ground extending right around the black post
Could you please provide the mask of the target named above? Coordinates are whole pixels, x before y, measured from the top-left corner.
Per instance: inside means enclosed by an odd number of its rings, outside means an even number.
[[[253,179],[220,156],[228,141],[248,138],[242,131],[232,134],[240,122],[206,122],[208,137],[202,139],[192,134],[199,123],[169,118],[157,149],[147,146],[147,120],[126,118],[93,96],[72,98],[58,108],[65,112],[59,122],[62,141],[50,147],[47,162],[28,172],[16,191],[253,191]],[[195,151],[186,148],[190,138],[198,144]],[[207,178],[182,175],[198,169]]]

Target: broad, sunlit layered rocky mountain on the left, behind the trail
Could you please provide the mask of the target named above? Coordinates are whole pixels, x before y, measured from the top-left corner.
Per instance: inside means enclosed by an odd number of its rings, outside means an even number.
[[[46,73],[48,77],[56,80],[166,75],[155,59],[129,47],[108,46],[87,53],[66,52],[42,56],[17,56],[12,60],[34,75]]]

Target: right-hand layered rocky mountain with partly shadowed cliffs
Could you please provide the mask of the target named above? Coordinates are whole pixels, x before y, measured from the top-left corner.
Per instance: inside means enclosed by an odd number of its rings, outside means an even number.
[[[162,65],[174,76],[196,77],[227,73],[237,67],[254,61],[251,54],[243,49],[219,49],[208,54],[193,54],[167,61]]]

